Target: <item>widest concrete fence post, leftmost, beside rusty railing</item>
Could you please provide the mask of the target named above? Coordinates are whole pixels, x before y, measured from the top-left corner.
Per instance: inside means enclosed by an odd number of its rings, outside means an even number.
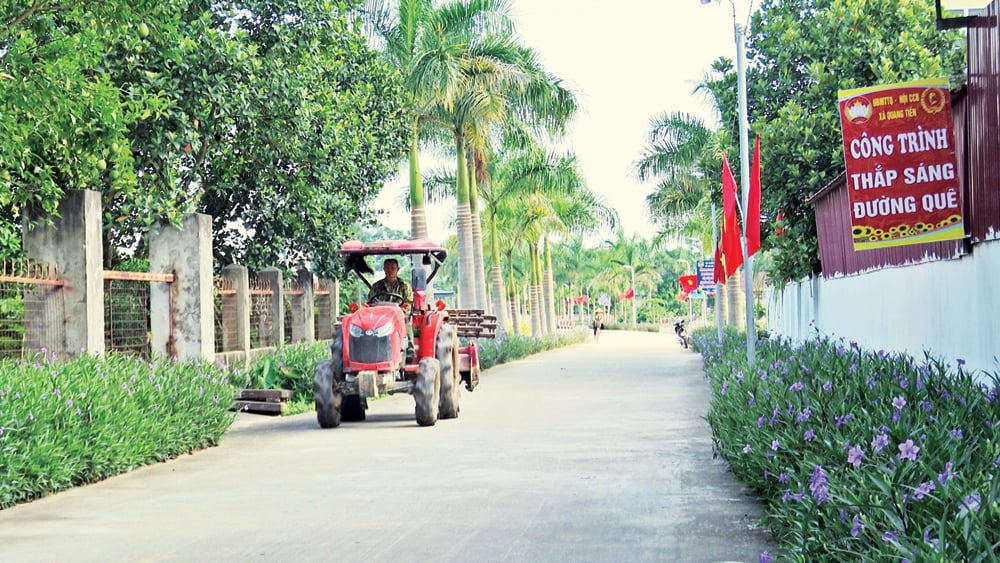
[[[25,347],[37,351],[77,354],[104,353],[104,243],[101,236],[101,194],[67,190],[57,217],[28,210],[24,215],[22,245],[31,260],[55,266],[64,285],[53,291],[42,287],[39,314],[26,314]],[[51,219],[52,224],[44,221]],[[31,223],[38,223],[30,227]],[[62,323],[61,342],[45,342],[51,335],[46,322]]]

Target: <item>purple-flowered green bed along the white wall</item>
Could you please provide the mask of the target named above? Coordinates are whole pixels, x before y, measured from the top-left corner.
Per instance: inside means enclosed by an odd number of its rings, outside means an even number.
[[[760,341],[751,368],[742,341],[695,331],[707,420],[789,559],[995,560],[998,376],[826,338]]]

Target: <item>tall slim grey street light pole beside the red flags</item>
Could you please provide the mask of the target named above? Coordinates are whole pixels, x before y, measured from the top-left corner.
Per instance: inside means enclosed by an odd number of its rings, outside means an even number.
[[[709,4],[712,0],[701,0],[702,4]],[[721,3],[722,0],[716,0]],[[740,185],[742,188],[743,204],[743,240],[741,250],[743,252],[743,292],[746,304],[746,333],[747,333],[747,362],[753,365],[757,357],[757,332],[754,327],[754,307],[753,307],[753,257],[747,252],[747,211],[750,202],[750,123],[747,119],[747,71],[746,71],[746,50],[744,45],[743,26],[736,18],[736,4],[729,0],[729,5],[733,8],[733,35],[736,39],[736,79],[737,95],[740,111]]]

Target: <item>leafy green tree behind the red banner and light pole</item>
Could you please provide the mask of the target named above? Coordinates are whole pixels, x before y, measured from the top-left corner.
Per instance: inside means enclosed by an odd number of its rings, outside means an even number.
[[[819,271],[814,209],[804,200],[844,170],[837,91],[938,76],[964,82],[961,35],[938,31],[934,14],[930,0],[765,0],[754,13],[748,98],[762,137],[762,210],[785,216],[785,235],[765,237],[778,284]]]

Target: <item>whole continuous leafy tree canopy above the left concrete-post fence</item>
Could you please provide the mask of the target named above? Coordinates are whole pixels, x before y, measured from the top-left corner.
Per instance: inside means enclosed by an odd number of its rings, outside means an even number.
[[[347,4],[23,4],[2,10],[0,253],[22,208],[44,218],[86,188],[112,252],[203,212],[220,264],[335,270],[410,127],[401,77]]]

